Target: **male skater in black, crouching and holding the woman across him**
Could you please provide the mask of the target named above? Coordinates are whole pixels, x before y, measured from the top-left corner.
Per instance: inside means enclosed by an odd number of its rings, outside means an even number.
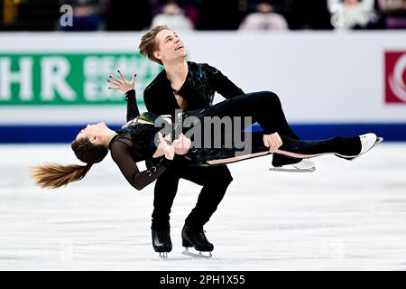
[[[184,42],[167,26],[156,26],[143,35],[139,45],[140,53],[151,61],[161,64],[164,70],[152,80],[143,92],[148,111],[156,115],[174,115],[175,109],[196,110],[210,107],[215,92],[224,98],[244,94],[219,70],[208,64],[186,61]],[[299,139],[290,128],[288,136]],[[286,134],[286,133],[285,133]],[[281,145],[279,135],[266,135],[263,139],[270,150]],[[300,159],[282,155],[273,157],[272,165],[281,168],[295,163],[300,170]],[[310,166],[313,164],[310,163]],[[304,170],[308,168],[304,167]],[[311,170],[311,167],[310,167]],[[192,245],[200,252],[211,252],[213,244],[208,242],[203,226],[208,222],[223,199],[233,178],[226,165],[216,167],[191,167],[175,158],[171,168],[164,172],[155,183],[152,212],[152,246],[156,252],[171,252],[170,212],[180,178],[203,186],[196,207],[189,213],[182,228],[184,247]]]

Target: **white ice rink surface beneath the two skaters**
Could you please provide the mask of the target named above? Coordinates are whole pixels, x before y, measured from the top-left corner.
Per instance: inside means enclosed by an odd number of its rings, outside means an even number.
[[[1,270],[405,270],[406,144],[312,173],[269,172],[271,157],[230,164],[234,181],[205,227],[211,259],[181,255],[199,186],[181,181],[173,250],[152,249],[153,185],[136,191],[110,156],[81,182],[42,190],[29,166],[79,163],[69,144],[0,145]]]

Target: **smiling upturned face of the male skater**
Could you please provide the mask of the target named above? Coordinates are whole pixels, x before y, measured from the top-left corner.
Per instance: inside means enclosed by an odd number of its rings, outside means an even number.
[[[154,51],[153,54],[162,62],[184,60],[188,55],[185,44],[180,40],[178,34],[171,30],[162,30],[156,34],[155,41],[158,44],[158,51]]]

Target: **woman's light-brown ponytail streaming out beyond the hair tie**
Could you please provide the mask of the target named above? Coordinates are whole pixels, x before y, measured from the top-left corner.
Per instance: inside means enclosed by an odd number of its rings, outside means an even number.
[[[45,163],[31,167],[31,178],[42,188],[56,189],[70,182],[83,179],[90,170],[92,163],[87,165]]]

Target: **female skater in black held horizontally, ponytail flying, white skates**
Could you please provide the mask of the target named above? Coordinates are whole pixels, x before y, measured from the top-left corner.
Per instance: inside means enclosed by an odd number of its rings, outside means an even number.
[[[281,123],[280,118],[284,117],[281,101],[274,93],[261,91],[229,98],[212,107],[183,113],[185,117],[197,117],[201,122],[204,122],[204,117],[253,117],[254,121],[263,127],[263,132],[251,133],[251,147],[244,150],[247,153],[235,145],[230,148],[192,147],[190,139],[183,134],[170,145],[161,135],[161,127],[154,126],[158,116],[139,113],[134,91],[135,76],[131,82],[126,82],[123,77],[122,79],[123,81],[112,89],[126,91],[127,123],[116,131],[103,122],[82,129],[71,148],[86,165],[47,163],[36,166],[33,168],[32,178],[37,185],[59,188],[69,182],[81,180],[93,164],[100,163],[106,157],[108,151],[125,179],[135,189],[142,190],[171,165],[175,154],[191,165],[198,166],[231,163],[275,152],[296,158],[335,154],[346,160],[353,160],[382,141],[382,138],[372,133],[353,137],[336,136],[318,141],[294,140],[279,135],[278,124]],[[182,128],[182,132],[187,133],[189,129]],[[155,142],[157,135],[159,145]],[[149,158],[154,160],[154,165],[150,170],[140,172],[135,163]],[[213,245],[204,236],[190,235],[187,228],[182,229],[182,244],[184,247],[195,247],[200,252],[213,250]]]

